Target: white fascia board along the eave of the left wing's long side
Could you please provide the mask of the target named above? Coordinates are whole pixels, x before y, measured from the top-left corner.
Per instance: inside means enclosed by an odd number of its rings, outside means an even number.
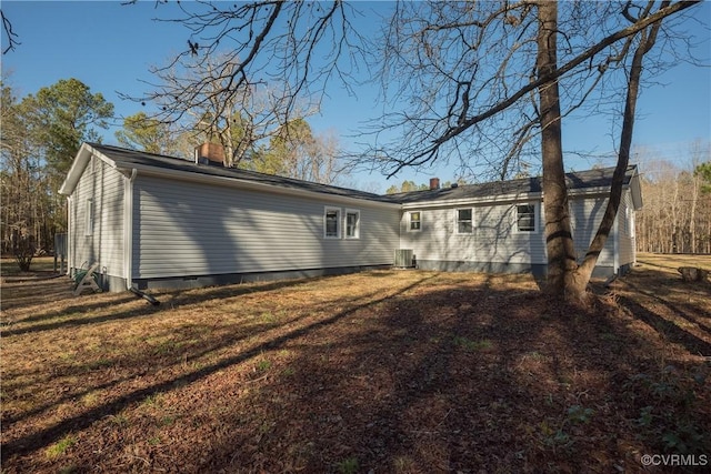
[[[119,168],[120,169],[120,168]],[[214,174],[201,174],[201,173],[187,173],[180,170],[170,170],[166,168],[156,168],[144,164],[133,163],[126,169],[127,172],[131,170],[138,171],[139,174],[159,178],[171,178],[174,180],[190,181],[197,183],[219,184],[228,188],[238,188],[243,190],[261,191],[284,195],[296,195],[309,199],[318,199],[320,201],[328,201],[332,203],[343,203],[351,205],[363,205],[367,203],[372,206],[381,206],[389,209],[400,209],[399,203],[371,201],[368,199],[349,198],[338,194],[320,193],[316,191],[299,190],[293,188],[282,188],[274,184],[259,183],[249,180],[241,180],[239,178],[217,177]]]

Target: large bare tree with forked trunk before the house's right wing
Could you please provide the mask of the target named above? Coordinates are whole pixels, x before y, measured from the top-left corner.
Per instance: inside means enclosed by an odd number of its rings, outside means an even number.
[[[570,301],[584,301],[585,288],[614,223],[639,95],[642,62],[657,41],[662,20],[692,3],[654,1],[635,6],[585,2],[501,2],[407,4],[397,10],[388,30],[385,72],[398,81],[394,97],[412,97],[412,110],[387,114],[385,125],[403,131],[404,140],[373,148],[390,174],[421,165],[491,150],[489,140],[509,133],[508,150],[499,157],[503,178],[512,157],[534,147],[539,135],[542,158],[547,291]],[[617,11],[615,11],[617,9]],[[407,10],[407,11],[405,11]],[[559,21],[559,10],[564,13]],[[434,20],[432,20],[434,19]],[[600,38],[600,32],[607,33]],[[558,44],[559,39],[564,46]],[[610,92],[612,71],[625,81]],[[417,83],[412,88],[414,77]],[[608,80],[609,81],[609,80]],[[412,89],[411,89],[412,88]],[[414,95],[414,90],[421,91]],[[533,93],[538,92],[538,97]],[[563,165],[561,123],[588,103],[593,107],[623,92],[624,111],[618,164],[602,223],[579,264],[573,245]],[[522,164],[519,162],[519,164]]]

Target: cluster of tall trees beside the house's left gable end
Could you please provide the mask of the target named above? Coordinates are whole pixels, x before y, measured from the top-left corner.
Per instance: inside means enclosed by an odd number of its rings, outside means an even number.
[[[67,229],[59,195],[81,142],[100,139],[113,104],[77,79],[60,80],[20,99],[2,82],[0,178],[2,252],[27,270],[37,252],[51,252]]]

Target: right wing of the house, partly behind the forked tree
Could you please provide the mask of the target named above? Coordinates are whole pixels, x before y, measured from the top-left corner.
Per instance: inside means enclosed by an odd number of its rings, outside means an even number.
[[[614,168],[567,174],[571,226],[579,263],[608,202]],[[548,261],[540,178],[453,185],[392,196],[401,203],[400,248],[418,266],[440,271],[532,272]],[[624,273],[635,262],[634,212],[642,206],[637,167],[629,167],[614,226],[593,276]]]

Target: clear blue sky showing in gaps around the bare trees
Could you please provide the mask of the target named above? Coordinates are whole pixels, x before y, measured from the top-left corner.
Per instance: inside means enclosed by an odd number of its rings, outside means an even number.
[[[383,4],[360,7],[360,10],[382,9]],[[164,7],[156,10],[153,1],[120,6],[117,1],[3,0],[1,8],[21,41],[17,50],[2,57],[3,75],[10,74],[9,83],[20,97],[73,77],[92,92],[101,92],[116,105],[119,117],[131,115],[141,108],[122,101],[117,92],[140,95],[146,90],[141,80],[152,79],[149,67],[166,63],[184,49],[188,39],[181,26],[152,21],[167,12]],[[704,64],[711,64],[711,3],[695,7],[695,17],[702,23],[689,23],[689,31],[699,42],[695,54]],[[365,28],[375,23],[372,18],[361,21]],[[318,132],[334,132],[341,144],[348,145],[349,135],[371,118],[374,95],[372,85],[358,90],[357,97],[349,97],[334,84],[330,98],[322,103],[321,114],[309,122]],[[655,78],[655,84],[641,94],[638,108],[634,145],[674,162],[685,160],[691,142],[711,140],[711,68],[677,65]],[[104,133],[106,143],[116,143],[116,130]],[[609,155],[614,150],[610,124],[590,118],[564,122],[564,148]],[[577,170],[591,167],[595,160],[570,157],[567,165]],[[613,164],[611,159],[602,162]],[[420,183],[438,175],[447,181],[454,179],[453,173],[453,169],[437,167],[423,172],[405,171],[388,181],[379,174],[360,173],[350,184],[384,192],[404,179]]]

